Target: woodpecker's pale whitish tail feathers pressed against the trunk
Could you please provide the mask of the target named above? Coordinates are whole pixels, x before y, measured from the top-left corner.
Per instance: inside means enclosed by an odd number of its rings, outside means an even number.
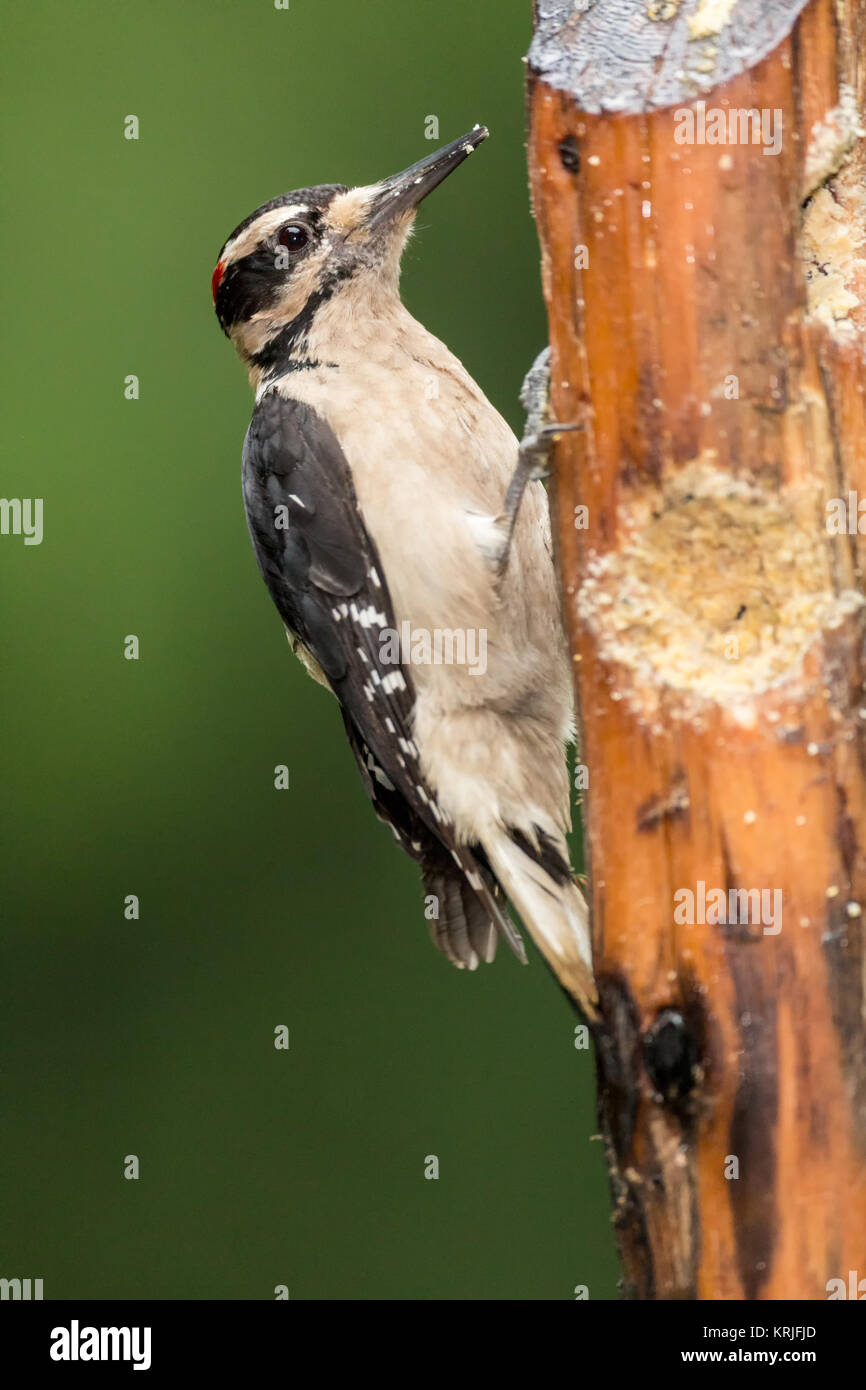
[[[589,1019],[596,1017],[589,913],[571,877],[564,838],[532,826],[532,835],[498,828],[484,848],[535,945]]]

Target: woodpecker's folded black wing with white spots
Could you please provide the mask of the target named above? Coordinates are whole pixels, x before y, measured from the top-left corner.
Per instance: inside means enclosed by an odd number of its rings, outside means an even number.
[[[425,785],[411,674],[384,659],[382,634],[396,621],[382,564],[339,441],[310,406],[261,396],[243,445],[243,500],[264,582],[342,706],[377,815],[439,898],[434,940],[456,965],[489,959],[492,922],[525,959],[492,874],[457,844]]]

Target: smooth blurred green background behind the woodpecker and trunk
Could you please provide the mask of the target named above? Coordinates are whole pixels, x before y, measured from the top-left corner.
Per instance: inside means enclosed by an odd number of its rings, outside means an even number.
[[[430,944],[259,578],[210,302],[263,200],[484,121],[405,299],[518,430],[528,40],[528,0],[7,10],[0,493],[44,539],[0,537],[0,1276],[46,1298],[616,1293],[591,1054],[531,947],[470,976]]]

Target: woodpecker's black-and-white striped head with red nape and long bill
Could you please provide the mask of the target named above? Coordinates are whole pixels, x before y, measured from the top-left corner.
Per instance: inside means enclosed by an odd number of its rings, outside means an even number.
[[[211,286],[217,318],[245,364],[267,374],[303,359],[322,310],[345,310],[356,324],[375,316],[382,296],[398,293],[418,204],[487,133],[475,125],[381,183],[300,188],[245,218],[220,252]]]

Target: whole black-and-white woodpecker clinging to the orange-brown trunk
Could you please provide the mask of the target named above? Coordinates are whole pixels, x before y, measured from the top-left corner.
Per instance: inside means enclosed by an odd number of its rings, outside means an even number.
[[[538,435],[521,449],[399,295],[421,200],[487,135],[379,183],[271,199],[222,246],[213,297],[256,392],[242,484],[261,575],[339,702],[377,815],[421,869],[434,942],[473,970],[503,937],[525,962],[510,901],[592,1015]],[[484,669],[460,659],[467,634]]]

